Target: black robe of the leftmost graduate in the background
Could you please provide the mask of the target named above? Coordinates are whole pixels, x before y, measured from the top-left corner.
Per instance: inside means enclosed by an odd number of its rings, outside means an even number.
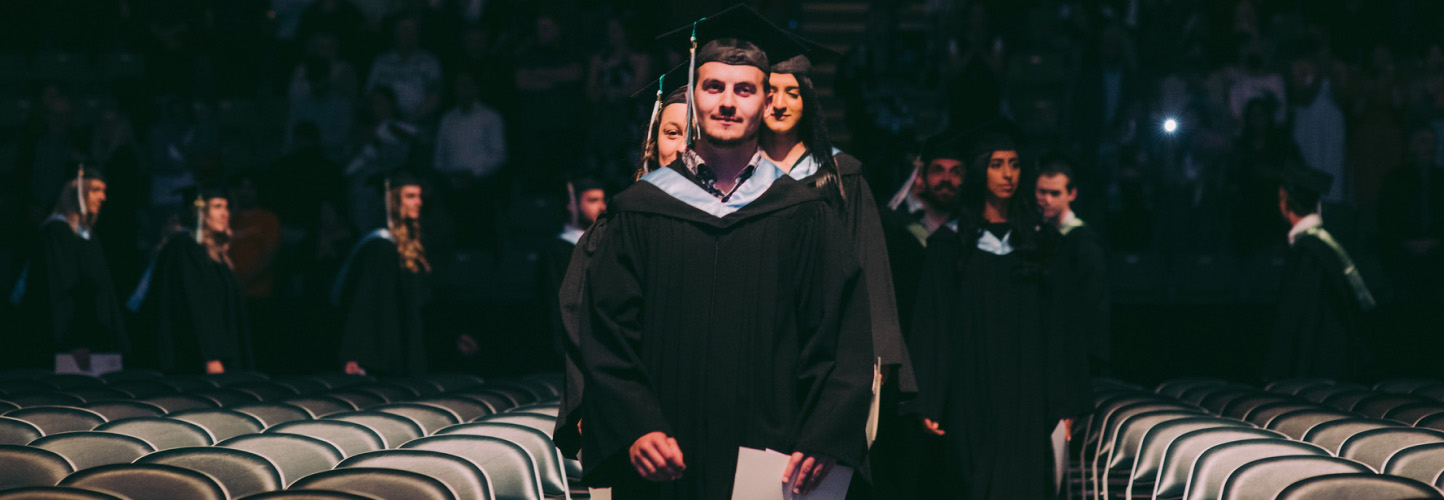
[[[20,345],[25,366],[51,367],[56,351],[90,348],[127,353],[126,324],[100,241],[84,238],[64,220],[40,225],[40,244],[26,272],[22,309],[30,342]]]

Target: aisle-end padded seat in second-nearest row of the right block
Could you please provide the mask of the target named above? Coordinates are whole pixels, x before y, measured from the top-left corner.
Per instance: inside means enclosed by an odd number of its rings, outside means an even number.
[[[1223,481],[1220,500],[1275,499],[1289,484],[1326,474],[1369,474],[1363,464],[1337,457],[1272,457],[1243,464]]]

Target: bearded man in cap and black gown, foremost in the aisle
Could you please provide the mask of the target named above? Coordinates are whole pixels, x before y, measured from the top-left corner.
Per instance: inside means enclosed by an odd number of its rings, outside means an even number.
[[[739,447],[791,454],[777,480],[804,491],[866,452],[861,269],[826,199],[757,147],[767,59],[790,39],[736,23],[768,25],[742,6],[697,25],[702,139],[598,223],[582,464],[617,499],[731,499]],[[726,38],[742,32],[760,38]]]

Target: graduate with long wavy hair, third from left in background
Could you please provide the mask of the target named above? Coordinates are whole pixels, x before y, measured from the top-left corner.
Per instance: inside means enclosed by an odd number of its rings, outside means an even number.
[[[384,181],[387,227],[351,249],[332,303],[341,308],[339,355],[347,373],[426,371],[422,309],[432,272],[422,246],[422,184],[407,172]]]

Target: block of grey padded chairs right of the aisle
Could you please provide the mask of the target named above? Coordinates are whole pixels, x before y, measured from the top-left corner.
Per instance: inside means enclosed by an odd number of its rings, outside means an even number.
[[[1444,382],[1095,380],[1070,499],[1444,499]]]

